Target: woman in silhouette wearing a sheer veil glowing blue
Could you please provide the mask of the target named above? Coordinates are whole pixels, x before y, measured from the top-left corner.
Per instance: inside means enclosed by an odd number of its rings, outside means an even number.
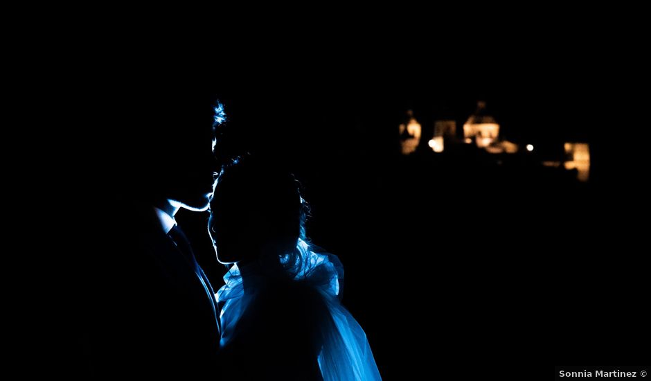
[[[233,264],[222,305],[220,375],[244,380],[381,380],[364,330],[339,302],[344,271],[305,238],[289,172],[253,157],[224,168],[208,230]]]

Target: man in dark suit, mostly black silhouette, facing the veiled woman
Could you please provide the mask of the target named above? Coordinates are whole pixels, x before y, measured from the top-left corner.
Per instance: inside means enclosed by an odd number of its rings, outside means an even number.
[[[113,197],[92,212],[105,220],[89,285],[91,373],[214,379],[217,303],[175,214],[208,209],[215,101],[186,85],[148,86],[118,103]]]

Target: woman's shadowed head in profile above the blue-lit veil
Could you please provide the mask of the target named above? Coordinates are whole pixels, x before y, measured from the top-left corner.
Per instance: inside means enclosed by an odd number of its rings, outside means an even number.
[[[208,230],[221,263],[298,259],[296,243],[305,239],[307,206],[298,181],[280,166],[253,156],[224,166],[211,212]]]

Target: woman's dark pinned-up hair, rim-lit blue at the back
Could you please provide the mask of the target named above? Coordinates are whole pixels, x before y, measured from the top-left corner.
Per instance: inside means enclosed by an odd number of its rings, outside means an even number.
[[[306,240],[305,220],[309,208],[301,197],[300,184],[291,172],[277,163],[251,155],[224,166],[217,179],[215,198],[220,208],[257,231],[249,231],[252,242],[271,244],[283,263],[296,263],[299,239]]]

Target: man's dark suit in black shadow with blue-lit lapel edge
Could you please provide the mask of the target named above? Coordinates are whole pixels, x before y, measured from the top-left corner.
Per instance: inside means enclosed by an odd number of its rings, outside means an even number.
[[[106,258],[93,372],[217,377],[217,306],[189,243],[168,236],[152,208],[125,225],[111,237],[117,247],[109,243],[118,252]]]

